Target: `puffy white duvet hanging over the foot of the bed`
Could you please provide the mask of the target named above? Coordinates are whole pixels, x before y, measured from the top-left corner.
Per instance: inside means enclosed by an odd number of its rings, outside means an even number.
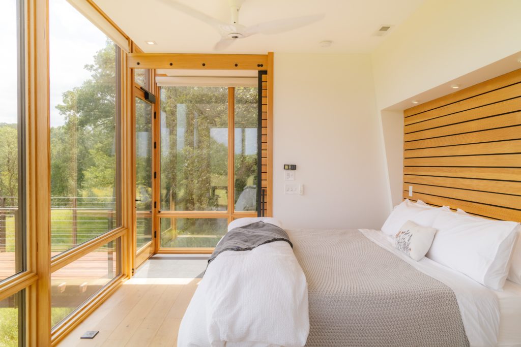
[[[289,243],[225,251],[212,261],[179,327],[179,347],[303,346],[307,283]]]

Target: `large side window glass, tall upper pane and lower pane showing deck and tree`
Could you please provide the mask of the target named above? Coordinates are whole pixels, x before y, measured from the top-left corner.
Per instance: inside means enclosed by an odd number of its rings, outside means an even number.
[[[66,0],[49,0],[51,252],[120,225],[120,48]],[[119,238],[51,275],[52,326],[120,274]]]

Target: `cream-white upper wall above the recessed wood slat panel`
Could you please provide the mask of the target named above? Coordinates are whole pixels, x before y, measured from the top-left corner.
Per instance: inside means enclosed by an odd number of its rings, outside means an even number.
[[[427,0],[373,52],[379,109],[520,49],[521,1]]]

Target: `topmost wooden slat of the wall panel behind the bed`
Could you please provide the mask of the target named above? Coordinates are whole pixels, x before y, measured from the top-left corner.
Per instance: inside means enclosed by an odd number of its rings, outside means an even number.
[[[414,114],[452,104],[453,102],[473,97],[477,94],[487,93],[493,91],[494,89],[504,87],[505,85],[511,85],[518,82],[521,82],[521,70],[508,72],[499,76],[498,78],[478,83],[476,85],[462,89],[461,91],[457,91],[429,102],[425,102],[425,104],[416,105],[410,109],[406,109],[403,114],[405,117],[410,117]]]

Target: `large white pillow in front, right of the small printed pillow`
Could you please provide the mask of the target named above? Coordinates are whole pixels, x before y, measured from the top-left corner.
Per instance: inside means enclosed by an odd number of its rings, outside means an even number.
[[[442,212],[432,224],[438,232],[427,258],[499,290],[508,275],[518,225]]]

